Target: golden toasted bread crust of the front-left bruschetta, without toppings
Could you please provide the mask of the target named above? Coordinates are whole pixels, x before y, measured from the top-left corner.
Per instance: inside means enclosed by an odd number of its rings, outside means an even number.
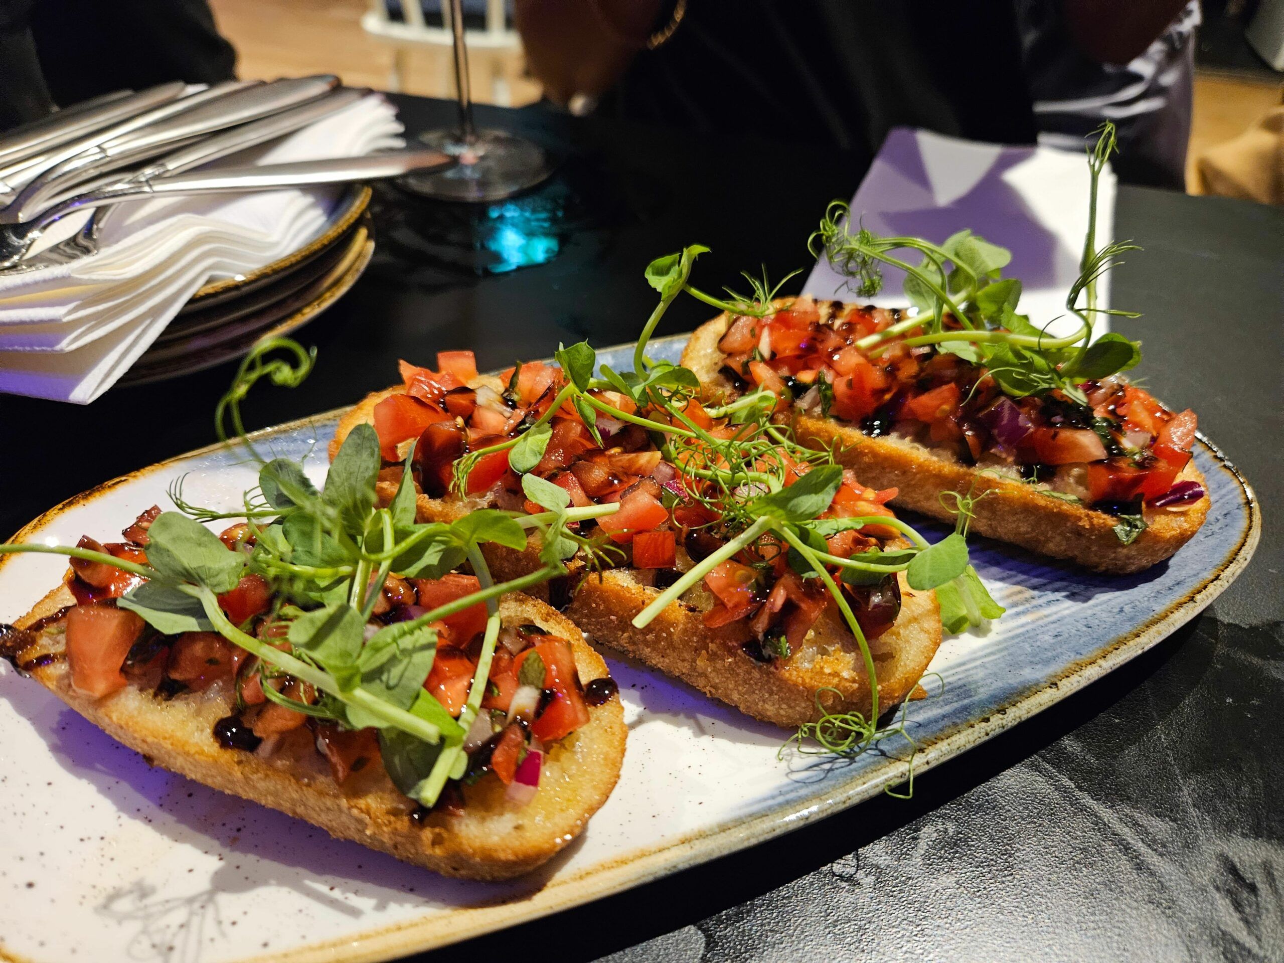
[[[73,605],[65,584],[50,592],[18,621],[31,625]],[[606,664],[560,612],[521,594],[505,597],[506,624],[534,623],[570,641],[575,668],[586,683],[607,674]],[[487,776],[465,786],[462,815],[430,813],[411,819],[415,802],[393,786],[376,760],[335,783],[312,747],[307,727],[286,733],[271,756],[227,750],[214,741],[213,724],[232,707],[229,688],[205,690],[163,701],[132,686],[92,698],[71,687],[62,634],[40,633],[23,651],[6,651],[15,665],[67,705],[149,763],[216,790],[306,819],[331,836],[353,840],[447,876],[506,880],[544,863],[578,836],[606,801],[624,760],[624,710],[619,698],[589,709],[591,719],[557,742],[544,759],[539,790],[525,806],[505,800],[505,786]],[[49,665],[32,665],[51,652]],[[37,660],[46,661],[46,660]]]

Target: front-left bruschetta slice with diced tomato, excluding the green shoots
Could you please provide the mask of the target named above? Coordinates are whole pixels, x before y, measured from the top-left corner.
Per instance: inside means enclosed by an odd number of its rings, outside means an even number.
[[[123,542],[81,546],[145,565],[158,515],[144,514]],[[254,550],[244,524],[222,541],[238,552]],[[404,760],[389,756],[386,732],[324,718],[316,688],[268,672],[218,632],[158,630],[127,607],[126,596],[143,584],[107,561],[76,559],[62,586],[15,625],[0,627],[0,655],[149,761],[207,786],[447,876],[503,880],[534,869],[583,832],[619,777],[625,725],[606,664],[566,616],[535,598],[512,593],[498,602],[502,629],[489,639],[485,697],[456,776],[425,808],[404,791]],[[363,645],[389,633],[406,643],[398,627],[476,588],[469,574],[390,574]],[[239,630],[298,654],[290,620],[306,612],[293,601],[253,573],[218,596]],[[435,657],[422,691],[434,711],[460,718],[487,621],[479,603],[433,624]],[[309,665],[324,664],[320,650],[312,656]],[[428,754],[431,764],[434,750],[440,745],[408,752]]]

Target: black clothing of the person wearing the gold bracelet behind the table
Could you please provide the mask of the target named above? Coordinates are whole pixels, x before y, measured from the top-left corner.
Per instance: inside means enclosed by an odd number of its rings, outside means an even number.
[[[690,0],[601,109],[850,150],[862,169],[898,126],[1036,134],[1011,0]]]

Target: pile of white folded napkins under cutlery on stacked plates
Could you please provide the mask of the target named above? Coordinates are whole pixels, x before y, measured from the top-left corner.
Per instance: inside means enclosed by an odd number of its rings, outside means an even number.
[[[372,94],[218,167],[356,157],[402,146]],[[214,167],[214,164],[211,164]],[[256,271],[325,231],[342,186],[167,198],[122,205],[94,256],[0,275],[0,392],[87,403],[110,388],[208,281]],[[42,244],[82,222],[68,218]]]

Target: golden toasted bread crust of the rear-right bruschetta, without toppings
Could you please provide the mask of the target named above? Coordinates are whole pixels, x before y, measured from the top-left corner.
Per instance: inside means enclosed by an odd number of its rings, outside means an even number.
[[[846,307],[841,302],[817,302],[822,320]],[[723,353],[718,342],[728,321],[723,313],[705,322],[682,352],[682,365],[696,374],[711,399],[734,393],[731,381],[719,372]],[[972,533],[1068,559],[1097,571],[1127,574],[1163,561],[1199,530],[1211,505],[1206,494],[1180,512],[1147,507],[1147,529],[1131,544],[1124,544],[1113,532],[1116,519],[1107,512],[1040,494],[1028,484],[978,471],[904,438],[869,438],[855,425],[796,411],[790,417],[801,443],[835,446],[838,461],[855,471],[862,483],[899,488],[894,506],[953,521],[955,506],[941,502],[942,492],[989,492],[975,505]],[[1179,478],[1204,483],[1194,461]]]

